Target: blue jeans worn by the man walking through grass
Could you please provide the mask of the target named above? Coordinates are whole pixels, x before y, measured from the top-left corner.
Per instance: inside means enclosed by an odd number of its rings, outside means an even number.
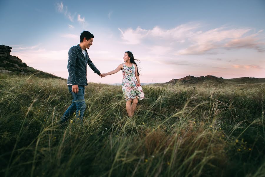
[[[85,86],[78,85],[78,93],[72,92],[72,86],[68,86],[69,92],[71,93],[73,100],[72,104],[68,107],[68,109],[64,112],[61,123],[67,121],[70,116],[76,111],[76,117],[83,122],[84,112],[86,109],[85,103]]]

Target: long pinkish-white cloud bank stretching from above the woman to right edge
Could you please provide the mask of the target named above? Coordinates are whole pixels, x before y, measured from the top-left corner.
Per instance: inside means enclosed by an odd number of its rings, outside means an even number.
[[[220,49],[231,50],[248,48],[258,52],[264,52],[264,42],[259,38],[260,30],[251,34],[251,28],[219,27],[210,30],[200,30],[203,27],[199,23],[181,24],[172,29],[162,29],[158,26],[151,30],[137,27],[135,30],[128,28],[120,30],[121,39],[126,44],[136,45],[153,40],[153,44],[163,43],[175,49],[176,55],[203,55],[217,54]],[[181,45],[180,45],[181,44]],[[161,45],[161,44],[160,44]],[[182,48],[182,46],[186,46]],[[181,49],[182,48],[182,49]]]

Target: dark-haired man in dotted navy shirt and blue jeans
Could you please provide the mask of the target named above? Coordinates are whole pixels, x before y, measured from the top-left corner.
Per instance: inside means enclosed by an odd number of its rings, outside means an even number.
[[[80,44],[70,48],[68,52],[68,73],[69,77],[67,85],[70,93],[72,94],[72,104],[64,112],[61,123],[67,121],[69,117],[76,111],[77,119],[83,121],[85,112],[85,86],[87,86],[87,64],[90,68],[97,73],[100,77],[104,77],[100,71],[90,60],[87,50],[92,45],[94,35],[88,31],[83,31],[80,35]]]

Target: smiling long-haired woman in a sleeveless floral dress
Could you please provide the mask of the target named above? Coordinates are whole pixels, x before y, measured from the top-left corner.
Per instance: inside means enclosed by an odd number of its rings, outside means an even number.
[[[120,64],[113,71],[102,74],[105,77],[122,70],[122,92],[125,96],[126,110],[129,117],[134,115],[138,99],[141,100],[145,98],[143,89],[140,85],[138,66],[135,63],[135,60],[136,59],[133,58],[132,53],[127,51],[123,56],[123,61],[125,61],[125,63]]]

